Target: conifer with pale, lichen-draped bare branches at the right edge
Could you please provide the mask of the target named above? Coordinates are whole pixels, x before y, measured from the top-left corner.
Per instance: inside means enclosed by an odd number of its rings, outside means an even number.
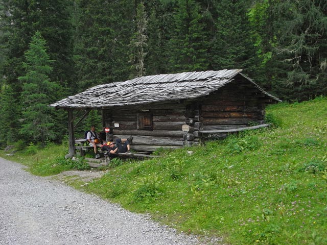
[[[276,48],[284,61],[291,99],[307,100],[327,92],[327,4],[325,0],[286,0],[279,16]],[[290,94],[289,94],[290,95]]]

